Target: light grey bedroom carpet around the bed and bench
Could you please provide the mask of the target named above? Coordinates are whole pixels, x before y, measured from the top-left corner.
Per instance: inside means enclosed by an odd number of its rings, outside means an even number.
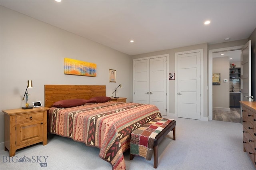
[[[254,165],[243,152],[243,134],[240,123],[198,121],[183,118],[176,120],[176,140],[172,131],[158,148],[157,170],[254,170]],[[70,138],[48,135],[48,144],[28,146],[16,151],[1,150],[1,170],[111,170],[112,166],[99,158],[99,149],[85,146]],[[32,162],[17,162],[20,158]],[[41,156],[41,157],[40,157]],[[48,157],[47,157],[48,156]],[[153,161],[135,156],[129,159],[124,153],[127,170],[154,170]],[[47,164],[45,164],[47,163]]]

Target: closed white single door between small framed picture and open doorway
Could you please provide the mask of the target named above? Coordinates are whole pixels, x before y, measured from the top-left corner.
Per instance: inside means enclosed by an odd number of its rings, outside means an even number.
[[[200,120],[200,52],[178,55],[178,117]]]

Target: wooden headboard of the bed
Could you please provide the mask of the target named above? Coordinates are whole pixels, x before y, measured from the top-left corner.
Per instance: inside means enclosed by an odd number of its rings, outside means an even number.
[[[105,85],[44,85],[44,106],[64,99],[90,99],[106,96]]]

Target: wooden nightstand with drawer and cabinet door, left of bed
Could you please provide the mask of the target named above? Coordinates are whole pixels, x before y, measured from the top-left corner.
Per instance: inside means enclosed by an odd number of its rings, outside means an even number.
[[[43,142],[47,144],[48,107],[10,109],[4,113],[4,150],[14,156],[17,149]]]

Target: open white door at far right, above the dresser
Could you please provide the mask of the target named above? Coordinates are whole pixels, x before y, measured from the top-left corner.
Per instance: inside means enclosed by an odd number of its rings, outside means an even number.
[[[241,100],[251,101],[251,40],[241,49]],[[241,109],[242,110],[242,109]]]

